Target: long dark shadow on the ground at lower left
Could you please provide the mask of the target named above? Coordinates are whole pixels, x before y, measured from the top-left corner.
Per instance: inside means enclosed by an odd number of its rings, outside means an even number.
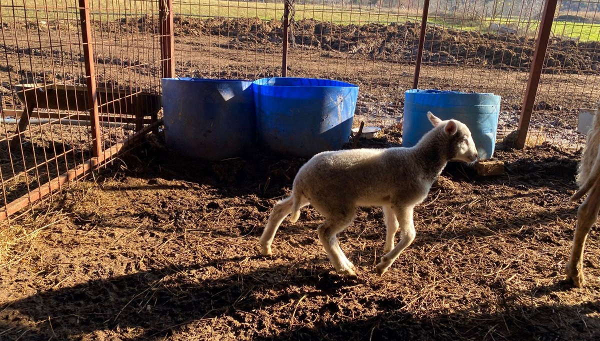
[[[166,336],[178,325],[199,319],[230,315],[237,310],[253,311],[302,295],[333,294],[344,285],[336,275],[319,275],[309,270],[299,280],[285,281],[287,268],[260,268],[200,280],[203,271],[222,259],[203,265],[167,267],[112,279],[91,280],[70,288],[40,292],[0,306],[0,336],[27,340],[73,339],[114,328],[142,328],[137,340]],[[285,289],[298,281],[314,288],[311,292],[290,293]],[[277,289],[281,295],[257,298],[263,289]],[[262,292],[264,294],[264,292]]]

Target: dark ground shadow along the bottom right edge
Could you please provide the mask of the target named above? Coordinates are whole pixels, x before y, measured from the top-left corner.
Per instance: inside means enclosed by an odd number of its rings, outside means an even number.
[[[291,328],[272,340],[598,340],[600,300],[574,305],[530,304],[533,298],[570,289],[568,283],[560,281],[509,293],[500,283],[493,288],[500,311],[487,310],[487,304],[467,304],[454,312],[419,317],[400,304],[367,318]]]

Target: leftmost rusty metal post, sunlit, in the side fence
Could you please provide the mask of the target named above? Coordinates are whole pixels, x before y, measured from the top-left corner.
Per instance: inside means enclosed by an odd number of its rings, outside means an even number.
[[[83,57],[85,58],[85,83],[88,87],[89,117],[92,127],[92,155],[100,157],[102,146],[101,131],[98,118],[98,95],[94,72],[94,49],[92,48],[92,31],[89,16],[89,1],[79,0],[79,18],[81,20]]]

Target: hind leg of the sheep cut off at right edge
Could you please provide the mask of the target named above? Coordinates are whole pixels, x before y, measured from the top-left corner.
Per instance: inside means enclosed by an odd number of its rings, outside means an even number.
[[[575,227],[571,256],[566,265],[567,279],[571,280],[579,288],[586,283],[583,275],[583,248],[586,244],[587,234],[589,234],[590,229],[592,229],[596,219],[598,219],[599,210],[600,180],[596,180],[587,198],[577,210],[577,226]]]

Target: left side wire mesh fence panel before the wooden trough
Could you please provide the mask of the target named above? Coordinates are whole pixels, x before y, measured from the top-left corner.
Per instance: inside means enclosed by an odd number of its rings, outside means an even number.
[[[0,219],[51,200],[56,189],[103,166],[132,144],[129,137],[158,121],[158,32],[145,20],[157,7],[154,1],[0,4]]]

